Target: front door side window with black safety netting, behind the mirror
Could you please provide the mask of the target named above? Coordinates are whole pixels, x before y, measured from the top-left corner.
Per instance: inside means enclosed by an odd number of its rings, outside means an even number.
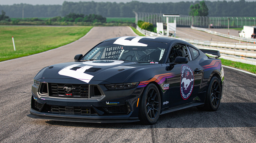
[[[186,57],[188,61],[190,60],[189,54],[188,54],[188,49],[184,45],[175,45],[172,47],[169,58],[167,62],[174,62],[175,58],[181,56],[181,57]]]

